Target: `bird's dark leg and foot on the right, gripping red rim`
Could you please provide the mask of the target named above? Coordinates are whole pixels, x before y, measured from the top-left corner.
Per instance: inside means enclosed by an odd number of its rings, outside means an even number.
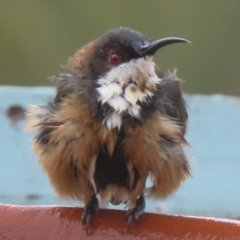
[[[143,195],[140,195],[134,208],[127,211],[127,224],[128,226],[132,223],[133,220],[138,220],[139,217],[144,213],[145,209],[145,198]]]

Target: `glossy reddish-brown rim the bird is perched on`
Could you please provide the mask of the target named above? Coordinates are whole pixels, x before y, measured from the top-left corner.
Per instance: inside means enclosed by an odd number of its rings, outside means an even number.
[[[0,238],[25,240],[65,239],[239,239],[240,221],[145,214],[130,232],[125,213],[102,210],[91,222],[88,234],[80,208],[0,205]]]

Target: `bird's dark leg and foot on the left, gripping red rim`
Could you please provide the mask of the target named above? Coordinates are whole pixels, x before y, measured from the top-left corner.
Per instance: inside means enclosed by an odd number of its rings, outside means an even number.
[[[98,199],[96,195],[93,194],[88,203],[86,204],[82,214],[82,223],[87,226],[87,231],[91,217],[93,216],[94,213],[98,212],[98,210],[99,210]]]

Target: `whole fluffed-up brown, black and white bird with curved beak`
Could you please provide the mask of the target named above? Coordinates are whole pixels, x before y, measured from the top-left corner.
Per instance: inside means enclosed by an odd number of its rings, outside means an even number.
[[[130,225],[146,198],[165,199],[191,176],[182,81],[154,62],[174,43],[189,41],[110,29],[68,59],[52,100],[29,107],[33,151],[55,192],[84,203],[86,226],[109,203],[125,204]]]

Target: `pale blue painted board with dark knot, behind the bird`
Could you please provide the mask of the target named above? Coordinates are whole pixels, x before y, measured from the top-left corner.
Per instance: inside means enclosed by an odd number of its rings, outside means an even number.
[[[44,104],[54,88],[0,87],[0,202],[14,204],[74,204],[55,197],[31,152],[25,122],[12,126],[5,110]],[[186,149],[193,178],[168,200],[148,201],[147,211],[214,217],[240,217],[240,101],[238,98],[186,96],[190,108]],[[113,206],[110,206],[113,207]],[[123,208],[123,206],[120,206]]]

